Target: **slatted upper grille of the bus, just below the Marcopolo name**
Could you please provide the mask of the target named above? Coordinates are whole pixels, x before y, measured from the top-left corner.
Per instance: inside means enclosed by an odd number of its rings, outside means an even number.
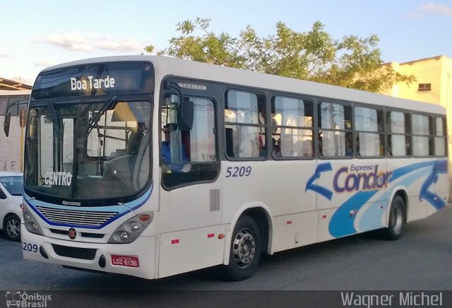
[[[67,223],[69,225],[99,226],[118,215],[118,212],[63,210],[36,206],[44,217],[52,223]]]

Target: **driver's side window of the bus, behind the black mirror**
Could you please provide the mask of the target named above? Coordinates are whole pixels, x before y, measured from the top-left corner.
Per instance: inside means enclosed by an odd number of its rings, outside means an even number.
[[[203,97],[187,97],[194,105],[193,126],[174,123],[177,101],[162,105],[162,185],[177,189],[198,182],[214,181],[220,170],[215,136],[215,103]],[[173,122],[172,122],[173,121]]]

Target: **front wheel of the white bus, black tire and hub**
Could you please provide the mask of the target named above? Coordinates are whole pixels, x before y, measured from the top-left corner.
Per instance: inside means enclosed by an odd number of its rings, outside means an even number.
[[[225,278],[233,281],[253,276],[261,258],[261,235],[256,221],[248,215],[239,218],[232,233],[229,264],[223,267]]]

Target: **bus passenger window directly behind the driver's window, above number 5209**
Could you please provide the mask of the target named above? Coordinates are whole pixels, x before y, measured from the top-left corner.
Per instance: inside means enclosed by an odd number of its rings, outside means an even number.
[[[265,158],[266,110],[263,95],[230,90],[225,102],[226,155]]]

